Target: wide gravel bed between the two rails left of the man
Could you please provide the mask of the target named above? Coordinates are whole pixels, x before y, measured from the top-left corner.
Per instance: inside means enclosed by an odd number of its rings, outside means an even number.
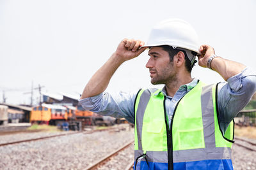
[[[127,129],[1,146],[0,169],[85,169],[133,138],[133,130]]]

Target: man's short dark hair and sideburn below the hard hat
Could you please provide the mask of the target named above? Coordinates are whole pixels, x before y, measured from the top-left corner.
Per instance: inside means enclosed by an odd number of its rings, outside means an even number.
[[[169,45],[161,45],[160,47],[162,47],[164,51],[169,53],[170,62],[173,62],[174,55],[177,55],[177,53],[179,53],[179,52],[183,52],[185,55],[186,69],[189,73],[191,73],[191,70],[192,70],[192,67],[194,66],[194,64],[191,64],[191,61],[189,60],[188,55],[184,50],[173,48],[172,46],[169,46]]]

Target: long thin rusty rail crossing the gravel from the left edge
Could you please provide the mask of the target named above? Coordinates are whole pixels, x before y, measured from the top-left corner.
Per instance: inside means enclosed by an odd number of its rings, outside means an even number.
[[[92,131],[79,131],[79,132],[72,132],[72,133],[65,133],[65,134],[56,134],[56,135],[45,136],[45,137],[41,137],[41,138],[25,139],[25,140],[20,140],[20,141],[13,141],[10,143],[1,143],[0,146],[13,145],[13,144],[17,144],[17,143],[25,143],[25,142],[30,142],[30,141],[38,141],[38,140],[42,140],[42,139],[54,138],[54,137],[59,137],[59,136],[67,136],[67,135],[77,134],[77,133],[90,134],[93,132],[120,131],[120,130],[121,130],[120,127],[111,127],[111,128],[106,128],[106,129],[96,129],[96,130],[92,130]],[[22,132],[22,131],[20,131],[20,132]]]

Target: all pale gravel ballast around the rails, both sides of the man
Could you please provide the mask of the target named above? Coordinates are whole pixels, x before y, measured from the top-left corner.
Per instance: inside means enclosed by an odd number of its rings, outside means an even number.
[[[31,133],[0,136],[0,143],[52,135]],[[0,169],[85,169],[134,139],[134,129],[70,134],[28,143],[0,147]],[[134,157],[133,146],[125,149],[99,169],[124,169]],[[256,169],[256,152],[234,144],[232,162],[235,170]],[[125,167],[123,167],[125,166]]]

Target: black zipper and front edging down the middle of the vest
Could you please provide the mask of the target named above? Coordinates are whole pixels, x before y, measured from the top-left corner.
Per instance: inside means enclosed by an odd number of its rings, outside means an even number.
[[[184,96],[183,96],[184,97]],[[178,103],[176,104],[173,115],[172,115],[172,120],[171,120],[171,128],[169,130],[169,125],[167,123],[167,114],[166,114],[166,108],[165,108],[165,101],[166,101],[166,96],[164,96],[164,117],[165,117],[165,126],[166,126],[166,133],[167,133],[167,148],[168,148],[168,170],[173,170],[173,143],[172,143],[172,125],[173,125],[173,118],[177,109],[178,104],[180,103],[181,97]]]

